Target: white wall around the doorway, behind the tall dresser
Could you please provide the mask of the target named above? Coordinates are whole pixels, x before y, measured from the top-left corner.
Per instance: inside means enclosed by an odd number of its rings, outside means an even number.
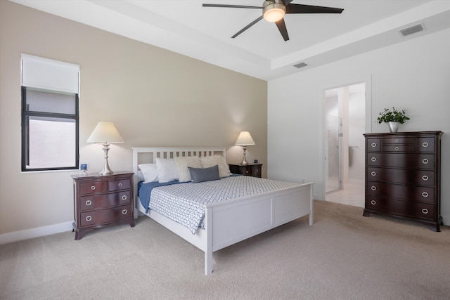
[[[450,30],[269,81],[268,177],[314,181],[314,198],[325,199],[323,89],[357,77],[372,80],[373,132],[387,132],[375,120],[392,106],[411,118],[401,131],[444,131],[441,214],[450,224]]]

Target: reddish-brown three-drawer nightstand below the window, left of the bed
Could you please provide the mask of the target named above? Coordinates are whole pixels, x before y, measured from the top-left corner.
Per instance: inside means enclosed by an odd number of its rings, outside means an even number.
[[[72,175],[75,240],[86,233],[119,223],[134,227],[133,172]]]

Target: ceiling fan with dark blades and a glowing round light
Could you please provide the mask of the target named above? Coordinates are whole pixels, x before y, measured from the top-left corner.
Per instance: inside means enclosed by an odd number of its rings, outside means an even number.
[[[326,7],[326,6],[312,6],[304,4],[291,4],[293,0],[267,0],[264,1],[262,6],[246,6],[246,5],[232,5],[232,4],[203,4],[203,7],[225,7],[225,8],[251,8],[251,9],[262,9],[262,15],[256,20],[251,22],[249,25],[243,27],[243,29],[236,32],[236,34],[231,37],[234,39],[239,34],[245,32],[250,27],[255,25],[257,22],[262,20],[268,22],[275,22],[276,27],[283,36],[285,41],[289,40],[288,30],[284,22],[284,15],[286,13],[342,13],[344,9]]]

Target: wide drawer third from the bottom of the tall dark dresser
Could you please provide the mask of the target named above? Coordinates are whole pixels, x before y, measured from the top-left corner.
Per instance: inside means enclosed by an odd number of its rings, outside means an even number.
[[[367,168],[367,179],[369,181],[386,181],[391,183],[409,183],[413,185],[435,185],[435,172],[425,170],[389,169],[389,168]]]

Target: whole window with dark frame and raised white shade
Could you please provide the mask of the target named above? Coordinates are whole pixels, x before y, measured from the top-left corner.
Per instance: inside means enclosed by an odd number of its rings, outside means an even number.
[[[78,169],[77,65],[22,56],[22,171]]]

